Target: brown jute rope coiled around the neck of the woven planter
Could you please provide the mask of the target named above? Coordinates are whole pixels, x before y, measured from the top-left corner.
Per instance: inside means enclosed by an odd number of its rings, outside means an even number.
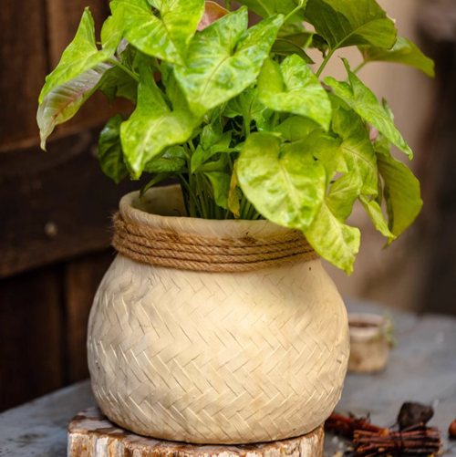
[[[137,262],[181,270],[248,272],[292,262],[316,260],[318,254],[298,231],[266,238],[208,238],[151,228],[114,216],[113,246]]]

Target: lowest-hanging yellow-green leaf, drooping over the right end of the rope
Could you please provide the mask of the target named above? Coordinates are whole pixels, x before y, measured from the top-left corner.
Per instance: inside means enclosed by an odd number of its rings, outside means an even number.
[[[325,199],[314,223],[306,230],[306,239],[328,262],[351,275],[359,252],[361,234],[357,228],[341,222],[326,202]]]

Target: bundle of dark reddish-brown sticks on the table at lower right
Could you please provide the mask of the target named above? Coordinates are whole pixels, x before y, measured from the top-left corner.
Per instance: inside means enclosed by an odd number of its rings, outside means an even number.
[[[333,414],[325,428],[352,439],[353,451],[359,457],[430,456],[441,452],[439,429],[426,427],[423,423],[392,431],[371,424],[368,418]]]

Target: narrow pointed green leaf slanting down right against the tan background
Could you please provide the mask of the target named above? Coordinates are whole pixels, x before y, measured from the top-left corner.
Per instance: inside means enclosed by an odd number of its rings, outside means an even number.
[[[335,78],[325,78],[326,84],[333,88],[337,97],[343,99],[362,119],[373,125],[393,144],[398,146],[400,151],[408,154],[411,160],[413,152],[402,138],[399,130],[396,129],[387,111],[378,103],[374,93],[350,70],[347,59],[344,58],[343,61],[347,68],[350,84],[338,82]]]

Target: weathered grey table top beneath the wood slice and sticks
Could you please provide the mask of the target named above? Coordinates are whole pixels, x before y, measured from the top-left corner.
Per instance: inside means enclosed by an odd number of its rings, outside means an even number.
[[[368,303],[348,302],[347,307],[350,312],[385,313],[385,307]],[[349,374],[337,412],[369,413],[373,423],[391,426],[404,401],[430,403],[436,411],[430,424],[442,431],[444,455],[456,457],[456,441],[448,440],[448,427],[456,419],[456,319],[389,312],[398,344],[387,369],[377,375]],[[94,405],[86,381],[5,411],[0,414],[0,456],[64,457],[68,422]],[[326,434],[326,457],[340,445]]]

